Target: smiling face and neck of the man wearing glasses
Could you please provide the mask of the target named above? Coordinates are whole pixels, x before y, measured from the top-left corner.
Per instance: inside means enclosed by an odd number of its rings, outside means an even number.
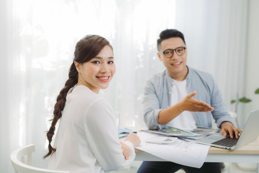
[[[175,79],[175,77],[185,77],[187,74],[186,67],[186,56],[187,56],[187,48],[185,48],[185,53],[182,55],[178,55],[180,53],[176,53],[177,50],[173,51],[173,56],[168,58],[165,56],[164,52],[167,49],[176,49],[177,47],[185,47],[184,41],[179,38],[170,38],[163,40],[161,42],[159,53],[157,53],[160,61],[163,61],[166,69],[169,72],[169,75]],[[177,79],[176,79],[177,80]]]

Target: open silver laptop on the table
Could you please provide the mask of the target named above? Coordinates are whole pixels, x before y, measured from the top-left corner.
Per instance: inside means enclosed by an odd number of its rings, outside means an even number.
[[[255,141],[259,136],[259,110],[252,111],[243,128],[243,132],[239,138],[230,138],[223,136],[221,132],[212,134],[210,136],[197,139],[195,142],[207,144],[228,150],[237,150],[246,144]]]

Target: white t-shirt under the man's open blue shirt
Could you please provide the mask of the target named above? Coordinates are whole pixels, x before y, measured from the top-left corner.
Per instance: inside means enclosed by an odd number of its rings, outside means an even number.
[[[176,81],[172,87],[171,92],[171,106],[183,100],[183,98],[187,95],[187,86],[186,80],[184,81]],[[193,130],[196,128],[196,123],[193,118],[193,115],[189,111],[184,111],[176,118],[171,120],[167,125],[173,126],[178,129],[183,130]]]

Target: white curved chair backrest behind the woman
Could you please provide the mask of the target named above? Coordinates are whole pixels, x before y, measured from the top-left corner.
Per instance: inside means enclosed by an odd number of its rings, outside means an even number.
[[[35,145],[27,145],[13,151],[10,155],[15,173],[70,173],[69,171],[54,171],[32,166],[32,153]]]

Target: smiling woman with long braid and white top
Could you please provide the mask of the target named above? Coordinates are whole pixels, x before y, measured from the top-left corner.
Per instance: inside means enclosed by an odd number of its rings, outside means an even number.
[[[87,35],[76,43],[69,79],[57,97],[51,127],[47,132],[51,156],[48,168],[71,173],[104,173],[129,165],[140,144],[136,134],[118,141],[114,111],[98,95],[115,73],[113,50],[103,37]],[[62,117],[62,118],[61,118]],[[60,120],[54,147],[55,125]]]

